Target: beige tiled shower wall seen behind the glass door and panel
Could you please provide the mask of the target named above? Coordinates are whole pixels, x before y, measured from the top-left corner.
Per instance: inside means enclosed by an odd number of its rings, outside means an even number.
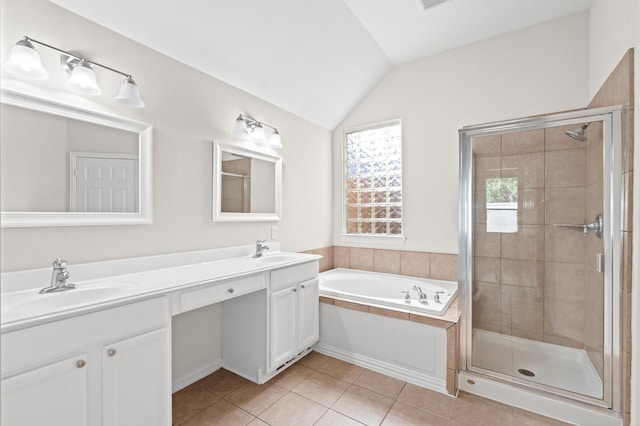
[[[579,229],[552,225],[587,223],[591,216],[587,188],[597,178],[587,181],[593,166],[586,144],[564,135],[568,129],[474,138],[473,324],[531,340],[597,348],[602,328],[598,340],[588,338],[597,333],[588,333],[585,326],[597,324],[589,307],[602,306],[602,294],[587,291],[589,239]],[[486,180],[491,178],[517,179],[516,232],[487,232]]]

